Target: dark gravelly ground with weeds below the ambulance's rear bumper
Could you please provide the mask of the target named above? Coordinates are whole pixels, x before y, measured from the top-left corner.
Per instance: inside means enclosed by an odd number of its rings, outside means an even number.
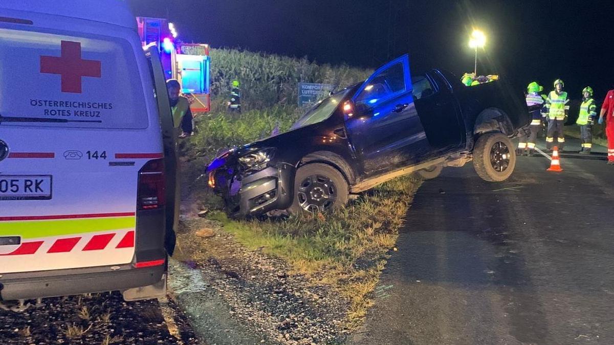
[[[0,310],[0,344],[199,342],[174,301],[125,302],[114,292],[45,298],[21,312]]]

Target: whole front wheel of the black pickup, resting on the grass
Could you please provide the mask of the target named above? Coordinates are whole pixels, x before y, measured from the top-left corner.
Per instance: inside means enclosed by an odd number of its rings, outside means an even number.
[[[290,214],[325,213],[348,203],[348,182],[337,169],[323,163],[301,166],[294,177]]]

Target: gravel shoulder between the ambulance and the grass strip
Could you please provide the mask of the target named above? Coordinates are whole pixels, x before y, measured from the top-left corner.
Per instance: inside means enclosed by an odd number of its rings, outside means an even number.
[[[279,258],[248,250],[205,219],[184,218],[170,289],[198,336],[216,344],[336,344],[349,300]],[[195,235],[198,230],[206,236]]]

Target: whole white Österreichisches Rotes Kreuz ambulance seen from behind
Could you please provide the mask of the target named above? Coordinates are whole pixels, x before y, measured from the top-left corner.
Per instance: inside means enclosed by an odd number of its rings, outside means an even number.
[[[173,141],[156,49],[125,2],[2,0],[0,300],[165,295]]]

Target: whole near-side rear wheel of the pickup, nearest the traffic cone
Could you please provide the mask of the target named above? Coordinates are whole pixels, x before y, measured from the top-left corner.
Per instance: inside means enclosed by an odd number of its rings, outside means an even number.
[[[473,148],[473,168],[488,182],[507,180],[516,166],[516,151],[503,133],[486,133]]]

